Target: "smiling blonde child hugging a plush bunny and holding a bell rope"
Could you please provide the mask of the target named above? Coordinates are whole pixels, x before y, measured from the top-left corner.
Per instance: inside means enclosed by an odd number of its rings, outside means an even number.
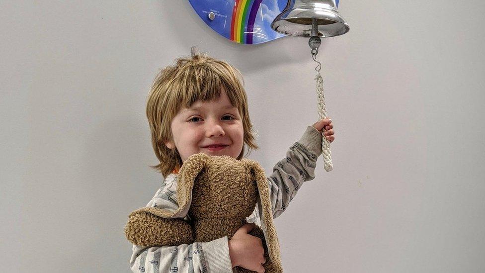
[[[162,173],[164,184],[148,207],[178,208],[177,173],[191,155],[228,155],[243,158],[244,146],[258,149],[247,109],[246,92],[240,72],[220,60],[192,51],[174,66],[161,70],[154,80],[147,102],[152,145],[160,161],[153,166]],[[303,182],[315,178],[317,158],[322,154],[322,135],[332,142],[330,119],[308,126],[303,136],[287,151],[286,157],[268,177],[273,218],[278,217]],[[246,154],[247,155],[247,154]],[[133,272],[232,273],[240,266],[264,272],[262,242],[248,234],[260,225],[257,206],[231,240],[228,237],[190,245],[142,248],[133,246]],[[189,220],[188,215],[177,215]]]

